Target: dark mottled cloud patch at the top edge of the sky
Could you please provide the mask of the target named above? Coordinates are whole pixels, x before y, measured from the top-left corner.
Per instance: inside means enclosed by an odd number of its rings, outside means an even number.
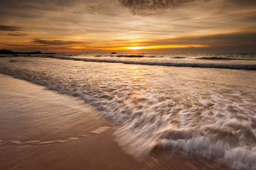
[[[179,6],[194,0],[118,0],[130,9],[133,15],[150,16],[162,13],[167,8]]]

